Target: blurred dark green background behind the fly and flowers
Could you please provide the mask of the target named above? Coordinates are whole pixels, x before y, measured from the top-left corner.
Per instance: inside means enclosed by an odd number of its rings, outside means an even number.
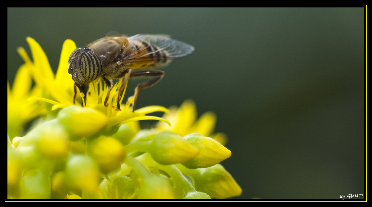
[[[137,108],[196,102],[229,137],[241,199],[365,196],[364,8],[7,8],[7,80],[34,38],[57,70],[62,43],[110,31],[195,46]],[[66,71],[67,72],[67,71]],[[133,95],[130,81],[126,97]],[[72,87],[72,86],[71,86]],[[364,198],[364,197],[363,197]]]

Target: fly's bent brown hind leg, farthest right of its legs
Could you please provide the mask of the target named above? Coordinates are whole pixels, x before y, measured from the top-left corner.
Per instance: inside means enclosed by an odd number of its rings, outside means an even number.
[[[134,111],[134,109],[135,109],[135,105],[136,105],[136,101],[137,101],[137,97],[138,97],[138,92],[140,91],[140,89],[148,88],[148,87],[151,87],[151,86],[155,85],[157,82],[159,82],[163,78],[164,74],[165,74],[165,72],[161,71],[161,70],[139,71],[139,72],[133,72],[131,74],[131,77],[157,76],[156,78],[152,79],[149,82],[138,84],[137,87],[134,89],[132,111]]]

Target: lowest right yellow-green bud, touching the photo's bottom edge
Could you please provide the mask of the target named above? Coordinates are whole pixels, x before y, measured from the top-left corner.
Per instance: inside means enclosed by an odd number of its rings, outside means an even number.
[[[195,170],[187,169],[182,165],[177,165],[177,167],[183,174],[194,180],[197,191],[204,192],[212,198],[225,199],[241,194],[241,187],[220,164]]]

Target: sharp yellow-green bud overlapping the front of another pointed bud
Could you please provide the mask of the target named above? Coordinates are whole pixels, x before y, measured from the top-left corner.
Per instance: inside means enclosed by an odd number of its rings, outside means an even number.
[[[157,134],[148,150],[153,159],[162,165],[182,163],[199,154],[198,149],[180,135],[170,131]]]

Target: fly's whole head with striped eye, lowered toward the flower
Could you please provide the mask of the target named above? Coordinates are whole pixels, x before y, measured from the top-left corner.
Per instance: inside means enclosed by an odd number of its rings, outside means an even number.
[[[68,60],[68,73],[76,85],[87,85],[102,74],[102,62],[89,48],[74,50]]]

